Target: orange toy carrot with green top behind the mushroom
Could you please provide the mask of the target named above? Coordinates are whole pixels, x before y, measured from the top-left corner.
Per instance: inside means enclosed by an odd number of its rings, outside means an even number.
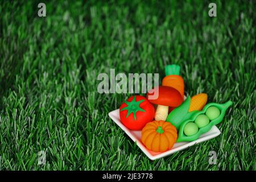
[[[184,97],[184,80],[180,76],[180,66],[176,64],[166,65],[166,77],[163,78],[163,86],[171,86],[179,91],[181,97]]]

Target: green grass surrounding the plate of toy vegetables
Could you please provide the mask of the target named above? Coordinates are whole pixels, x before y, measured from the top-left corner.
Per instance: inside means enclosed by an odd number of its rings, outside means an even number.
[[[0,4],[2,170],[255,170],[255,1]],[[98,73],[179,64],[187,95],[233,101],[217,138],[151,161],[108,117],[130,94],[97,93]],[[38,152],[46,164],[38,165]],[[210,165],[209,151],[217,152]]]

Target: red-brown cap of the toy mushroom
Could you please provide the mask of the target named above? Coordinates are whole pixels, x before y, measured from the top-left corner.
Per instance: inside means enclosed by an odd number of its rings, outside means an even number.
[[[158,89],[159,92],[158,98],[154,100],[148,98],[148,96],[153,96],[155,94],[156,89]],[[152,104],[171,107],[177,107],[183,102],[183,98],[181,97],[179,91],[171,86],[157,86],[154,89],[149,90],[147,93],[147,99]]]

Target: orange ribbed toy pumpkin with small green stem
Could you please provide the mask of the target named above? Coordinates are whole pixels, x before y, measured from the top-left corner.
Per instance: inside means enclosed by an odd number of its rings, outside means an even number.
[[[177,130],[170,122],[153,121],[142,129],[141,141],[148,150],[164,152],[170,150],[177,140]]]

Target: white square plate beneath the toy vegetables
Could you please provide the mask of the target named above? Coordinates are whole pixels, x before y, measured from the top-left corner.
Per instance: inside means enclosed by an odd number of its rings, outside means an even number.
[[[147,148],[141,143],[141,130],[139,130],[139,131],[129,130],[129,129],[127,129],[127,127],[125,127],[125,125],[122,124],[120,117],[119,117],[119,109],[111,111],[109,113],[109,117],[115,123],[117,123],[117,125],[119,127],[121,127],[121,129],[123,131],[125,131],[125,133],[134,142],[137,142],[137,146],[139,146],[139,148],[141,148],[141,150],[144,152],[144,154],[146,154],[148,156],[148,158],[150,158],[151,160],[163,158],[167,155],[173,154],[174,152],[184,150],[185,148],[193,146],[196,143],[204,142],[206,140],[215,138],[221,134],[220,130],[218,130],[218,128],[216,126],[213,126],[212,129],[210,129],[210,131],[201,135],[199,139],[197,139],[193,142],[178,142],[178,143],[175,143],[174,146],[166,152],[153,152],[153,151],[147,150]]]

